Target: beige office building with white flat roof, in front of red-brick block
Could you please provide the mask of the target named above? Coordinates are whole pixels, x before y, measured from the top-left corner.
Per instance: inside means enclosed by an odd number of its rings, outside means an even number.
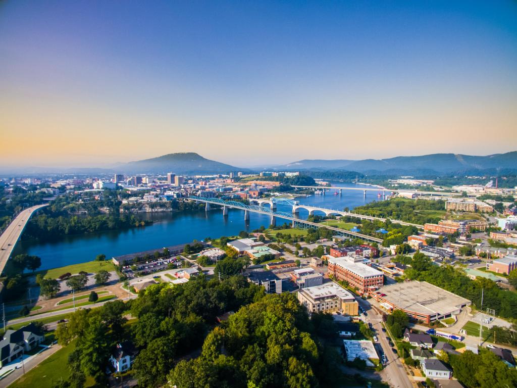
[[[340,311],[346,315],[358,315],[359,304],[351,292],[334,282],[298,291],[298,301],[309,312]]]

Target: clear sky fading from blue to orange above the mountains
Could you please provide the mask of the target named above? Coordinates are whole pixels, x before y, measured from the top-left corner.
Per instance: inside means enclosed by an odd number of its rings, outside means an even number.
[[[0,165],[517,150],[517,1],[0,1]]]

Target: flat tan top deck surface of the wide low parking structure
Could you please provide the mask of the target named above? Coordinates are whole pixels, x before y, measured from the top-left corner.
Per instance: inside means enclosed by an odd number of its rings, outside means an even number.
[[[468,299],[453,294],[442,288],[433,286],[427,281],[407,281],[384,286],[383,298],[400,309],[424,315],[446,315],[458,310]]]

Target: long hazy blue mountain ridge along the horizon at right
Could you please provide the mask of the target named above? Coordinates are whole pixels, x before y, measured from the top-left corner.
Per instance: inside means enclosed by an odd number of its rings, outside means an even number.
[[[451,173],[467,170],[511,169],[517,170],[517,151],[488,156],[461,154],[431,154],[422,156],[397,156],[388,159],[363,160],[300,160],[287,165],[275,166],[273,170],[348,170],[366,173],[412,173],[427,171]]]

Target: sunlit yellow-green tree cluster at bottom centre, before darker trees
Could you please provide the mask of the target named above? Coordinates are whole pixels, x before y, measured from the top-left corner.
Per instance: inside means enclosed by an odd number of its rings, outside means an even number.
[[[315,323],[330,327],[331,322],[315,316]],[[216,327],[201,355],[180,361],[167,380],[178,388],[316,387],[338,376],[339,369],[337,357],[329,360],[314,332],[295,295],[269,294]]]

